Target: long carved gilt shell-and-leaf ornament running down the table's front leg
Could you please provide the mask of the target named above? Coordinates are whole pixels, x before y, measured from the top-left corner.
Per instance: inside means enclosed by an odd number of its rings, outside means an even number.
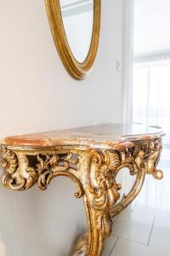
[[[120,197],[118,190],[122,186],[116,183],[114,174],[120,165],[120,155],[116,151],[91,152],[89,189],[94,195],[92,207],[96,226],[104,237],[111,235],[110,205]]]

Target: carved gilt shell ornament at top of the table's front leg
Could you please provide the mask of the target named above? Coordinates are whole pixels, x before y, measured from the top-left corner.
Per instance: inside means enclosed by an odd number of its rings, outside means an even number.
[[[121,160],[119,154],[114,151],[105,153],[94,152],[90,166],[90,188],[92,193],[96,195],[94,199],[94,208],[102,207],[105,202],[109,202],[111,198],[115,202],[119,199],[118,189],[121,189],[121,184],[116,183],[114,172],[120,166]],[[109,192],[108,198],[105,198],[105,192]],[[111,195],[112,194],[112,195]],[[101,204],[99,203],[101,202]]]

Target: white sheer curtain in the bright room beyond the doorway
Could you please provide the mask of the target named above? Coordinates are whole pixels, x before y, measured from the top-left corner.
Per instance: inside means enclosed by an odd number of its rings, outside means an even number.
[[[170,146],[170,60],[134,63],[133,122],[161,126]]]

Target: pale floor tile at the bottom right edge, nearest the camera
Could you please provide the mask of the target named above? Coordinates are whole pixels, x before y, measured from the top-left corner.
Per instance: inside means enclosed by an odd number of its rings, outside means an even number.
[[[169,256],[169,253],[119,238],[111,256]]]

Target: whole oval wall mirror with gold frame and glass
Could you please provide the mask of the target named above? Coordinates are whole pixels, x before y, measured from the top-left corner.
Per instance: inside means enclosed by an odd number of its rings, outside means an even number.
[[[46,6],[65,68],[74,79],[85,79],[98,49],[101,0],[46,0]]]

